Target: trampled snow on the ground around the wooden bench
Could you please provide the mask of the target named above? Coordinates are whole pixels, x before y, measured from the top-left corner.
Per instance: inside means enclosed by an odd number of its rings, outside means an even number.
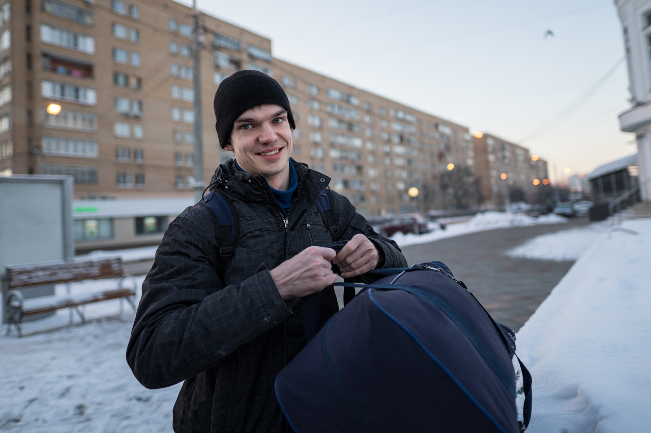
[[[137,278],[140,285],[144,276]],[[102,282],[72,287],[98,289]],[[104,281],[104,285],[106,281]],[[59,285],[57,292],[65,288]],[[79,326],[17,338],[0,337],[0,430],[7,432],[171,432],[172,408],[180,384],[150,390],[126,363],[133,310],[119,315],[117,300],[86,307]],[[109,317],[106,317],[109,315]],[[25,323],[35,332],[68,323],[67,310]],[[79,322],[75,317],[76,323]],[[4,327],[3,327],[4,328]]]

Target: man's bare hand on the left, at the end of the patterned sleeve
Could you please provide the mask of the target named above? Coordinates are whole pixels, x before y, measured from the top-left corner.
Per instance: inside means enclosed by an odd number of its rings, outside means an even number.
[[[302,298],[337,282],[330,265],[336,254],[332,248],[309,246],[271,269],[269,273],[281,298]]]

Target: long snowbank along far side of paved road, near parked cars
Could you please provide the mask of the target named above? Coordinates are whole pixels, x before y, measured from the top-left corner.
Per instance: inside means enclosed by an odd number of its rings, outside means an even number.
[[[430,231],[430,233],[424,233],[422,235],[413,235],[412,233],[409,233],[404,235],[402,232],[398,231],[391,236],[391,239],[396,241],[399,246],[408,246],[438,241],[439,239],[446,239],[449,237],[467,235],[468,233],[475,233],[476,231],[508,227],[535,226],[537,224],[558,224],[562,222],[567,222],[567,218],[551,213],[549,215],[541,215],[538,218],[534,218],[524,215],[523,213],[489,211],[478,213],[469,221],[450,224],[445,230],[439,229],[439,224],[437,223],[430,223],[428,226],[433,230]]]

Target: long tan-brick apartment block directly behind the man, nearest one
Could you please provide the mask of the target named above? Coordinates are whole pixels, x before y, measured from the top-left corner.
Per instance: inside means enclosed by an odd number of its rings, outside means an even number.
[[[332,177],[361,214],[476,205],[464,189],[477,165],[467,127],[274,59],[268,38],[201,21],[204,179],[232,157],[217,142],[212,96],[232,72],[255,69],[290,98],[294,157]],[[116,212],[130,218],[135,199],[193,197],[191,30],[191,9],[171,0],[0,0],[0,174],[74,176],[75,209],[85,209],[74,214],[78,243],[154,243],[182,211],[161,204],[161,215],[114,224],[82,201],[122,200]],[[133,230],[120,238],[118,226]]]

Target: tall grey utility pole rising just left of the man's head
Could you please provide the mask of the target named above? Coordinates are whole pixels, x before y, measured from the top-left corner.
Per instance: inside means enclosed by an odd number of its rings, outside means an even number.
[[[203,131],[201,124],[201,21],[197,9],[197,0],[192,1],[192,21],[194,24],[192,28],[192,81],[195,93],[195,156],[193,163],[195,166],[195,200],[199,202],[205,185],[203,179]]]

